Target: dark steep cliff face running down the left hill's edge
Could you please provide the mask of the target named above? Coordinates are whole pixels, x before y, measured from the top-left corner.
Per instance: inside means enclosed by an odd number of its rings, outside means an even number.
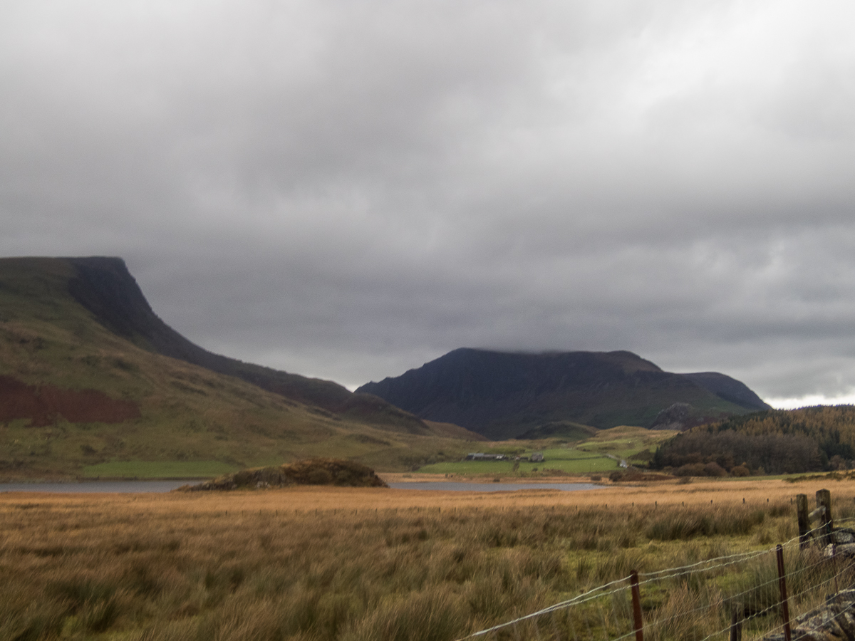
[[[335,414],[393,424],[412,433],[428,432],[422,420],[380,398],[353,394],[333,381],[309,379],[213,354],[193,344],[154,313],[121,258],[91,256],[66,260],[74,268],[74,276],[68,279],[68,293],[101,325],[145,350],[236,376],[264,390]]]

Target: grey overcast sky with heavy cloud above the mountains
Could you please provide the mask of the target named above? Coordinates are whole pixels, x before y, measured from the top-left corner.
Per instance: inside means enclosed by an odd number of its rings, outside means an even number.
[[[853,24],[843,0],[3,0],[0,254],[122,256],[194,342],[351,389],[467,346],[852,400]]]

